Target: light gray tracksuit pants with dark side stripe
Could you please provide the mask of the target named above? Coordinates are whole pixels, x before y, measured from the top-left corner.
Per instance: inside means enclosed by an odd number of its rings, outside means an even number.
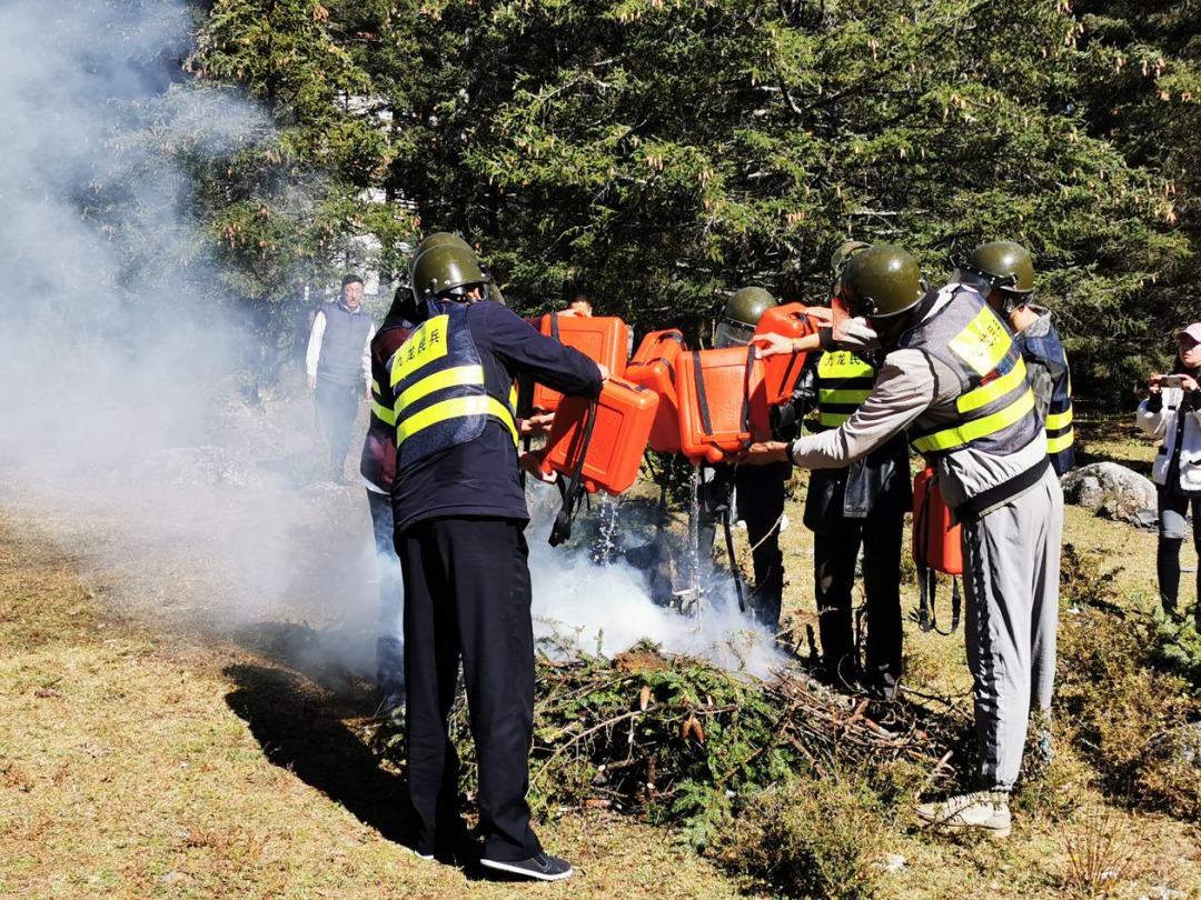
[[[1051,709],[1062,536],[1063,492],[1050,468],[1017,499],[963,523],[967,652],[984,790],[1014,787],[1030,708]]]

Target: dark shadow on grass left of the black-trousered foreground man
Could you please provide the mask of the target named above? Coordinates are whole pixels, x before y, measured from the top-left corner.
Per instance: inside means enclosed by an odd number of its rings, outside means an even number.
[[[370,748],[343,724],[347,713],[354,715],[346,697],[267,666],[228,666],[225,674],[237,684],[226,703],[250,726],[271,763],[386,839],[404,842],[410,833],[404,780],[382,770]]]

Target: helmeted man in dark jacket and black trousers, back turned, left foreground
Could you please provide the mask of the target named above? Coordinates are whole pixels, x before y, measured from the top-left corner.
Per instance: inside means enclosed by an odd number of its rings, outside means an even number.
[[[485,300],[490,280],[470,250],[424,250],[411,281],[423,320],[393,356],[389,382],[414,848],[454,852],[464,836],[459,757],[447,736],[461,656],[479,761],[482,862],[521,877],[566,878],[570,865],[543,852],[526,803],[534,658],[512,391],[525,373],[594,397],[607,372]],[[522,466],[537,472],[532,462]]]

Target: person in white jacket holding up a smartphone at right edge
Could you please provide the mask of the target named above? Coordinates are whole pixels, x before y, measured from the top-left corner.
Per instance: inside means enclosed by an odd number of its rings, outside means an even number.
[[[1164,612],[1181,618],[1177,600],[1181,586],[1181,544],[1184,520],[1193,508],[1193,546],[1201,551],[1196,530],[1201,514],[1201,322],[1176,332],[1178,365],[1171,374],[1148,379],[1151,396],[1139,404],[1139,427],[1163,443],[1151,478],[1159,490],[1159,545],[1155,574]],[[1201,598],[1201,571],[1197,574]],[[1201,628],[1201,602],[1194,610]]]

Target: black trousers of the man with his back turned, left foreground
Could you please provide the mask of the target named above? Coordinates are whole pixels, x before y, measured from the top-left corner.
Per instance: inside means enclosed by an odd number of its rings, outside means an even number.
[[[405,584],[408,797],[417,851],[453,850],[459,755],[447,734],[462,658],[479,761],[484,857],[514,862],[542,851],[530,827],[533,626],[525,523],[437,518],[398,536]]]

